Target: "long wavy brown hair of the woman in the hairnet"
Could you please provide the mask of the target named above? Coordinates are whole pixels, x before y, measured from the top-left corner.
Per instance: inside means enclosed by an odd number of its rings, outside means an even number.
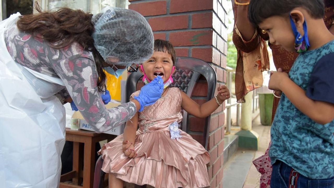
[[[97,82],[99,92],[104,91],[106,75],[102,65],[105,61],[94,46],[93,14],[69,8],[46,12],[41,10],[37,2],[35,2],[35,9],[38,14],[20,16],[17,21],[18,29],[33,36],[38,35],[47,41],[51,48],[62,49],[76,42],[82,46],[83,50],[91,51],[99,76]]]

